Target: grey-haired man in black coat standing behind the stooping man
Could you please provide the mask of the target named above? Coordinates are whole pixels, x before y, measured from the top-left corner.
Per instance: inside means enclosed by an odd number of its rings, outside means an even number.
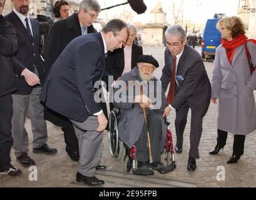
[[[83,34],[96,32],[92,23],[97,21],[100,11],[100,4],[96,0],[83,0],[81,1],[78,13],[74,13],[67,19],[57,21],[53,24],[46,39],[44,54],[44,68],[46,73],[48,73],[53,63],[72,39]],[[66,143],[66,152],[71,160],[78,162],[78,139],[70,121],[48,108],[44,111],[44,119],[62,128]],[[105,169],[106,167],[99,165],[97,168]]]

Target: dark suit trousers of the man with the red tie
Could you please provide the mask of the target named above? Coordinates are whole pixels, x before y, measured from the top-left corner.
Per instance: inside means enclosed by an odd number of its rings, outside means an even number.
[[[183,133],[185,126],[187,124],[188,109],[191,108],[191,127],[190,127],[190,151],[189,156],[193,158],[199,158],[198,146],[200,143],[200,138],[203,131],[203,117],[207,113],[209,101],[205,101],[205,104],[202,104],[202,108],[193,108],[189,106],[188,103],[184,103],[179,110],[176,110],[175,118],[175,130],[177,136],[176,146],[182,148],[183,146]]]

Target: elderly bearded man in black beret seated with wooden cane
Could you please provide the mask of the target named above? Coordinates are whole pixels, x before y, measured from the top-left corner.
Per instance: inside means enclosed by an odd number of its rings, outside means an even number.
[[[168,173],[176,167],[175,164],[166,167],[161,163],[167,131],[165,108],[168,105],[161,82],[152,75],[158,66],[153,56],[142,55],[137,68],[123,74],[114,86],[113,105],[119,109],[115,117],[118,118],[118,137],[129,149],[136,146],[138,164],[133,174]]]

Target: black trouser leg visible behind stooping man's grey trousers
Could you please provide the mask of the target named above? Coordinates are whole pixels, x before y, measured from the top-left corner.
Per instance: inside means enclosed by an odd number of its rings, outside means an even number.
[[[61,128],[64,133],[64,141],[66,143],[66,152],[72,154],[74,152],[79,153],[78,138],[74,128]]]

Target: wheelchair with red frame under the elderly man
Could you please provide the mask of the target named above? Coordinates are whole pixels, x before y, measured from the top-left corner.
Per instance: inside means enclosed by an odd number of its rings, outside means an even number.
[[[110,146],[110,154],[116,161],[120,161],[124,155],[123,172],[129,174],[132,171],[133,174],[136,174],[136,147],[133,145],[132,148],[129,149],[128,146],[120,140],[118,135],[118,113],[119,109],[113,108],[108,118],[108,142]],[[169,173],[176,168],[172,132],[169,129],[169,125],[170,123],[166,121],[166,126],[168,127],[164,146],[166,166],[164,171],[158,171],[161,174]]]

